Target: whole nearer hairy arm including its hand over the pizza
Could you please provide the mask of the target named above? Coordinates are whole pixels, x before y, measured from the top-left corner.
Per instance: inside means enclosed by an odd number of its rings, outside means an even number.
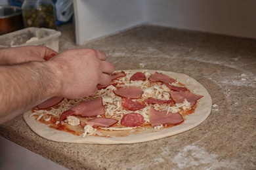
[[[66,50],[49,61],[0,65],[0,124],[54,96],[93,95],[106,86],[114,65],[98,50]]]

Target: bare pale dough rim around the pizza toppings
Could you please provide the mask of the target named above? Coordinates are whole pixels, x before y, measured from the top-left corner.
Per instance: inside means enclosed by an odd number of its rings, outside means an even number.
[[[134,73],[143,70],[132,70]],[[149,73],[155,73],[156,70],[146,70]],[[195,112],[189,114],[188,116],[184,116],[184,122],[179,124],[178,126],[161,128],[160,130],[154,129],[146,129],[145,131],[141,131],[138,133],[133,133],[131,135],[125,135],[124,137],[99,137],[99,136],[76,136],[72,133],[68,133],[65,131],[58,131],[56,129],[50,128],[45,124],[37,122],[35,118],[30,114],[31,111],[25,112],[23,117],[28,126],[37,133],[37,135],[49,139],[51,141],[56,142],[66,142],[66,143],[88,143],[88,144],[130,144],[130,143],[142,143],[146,141],[153,141],[156,139],[161,139],[163,137],[170,137],[172,135],[176,135],[178,133],[182,133],[184,131],[188,131],[199,124],[201,124],[207,116],[209,116],[211,112],[211,96],[207,92],[207,90],[188,75],[184,75],[181,73],[173,73],[171,71],[157,71],[158,73],[163,73],[165,75],[170,76],[171,78],[177,79],[179,82],[184,84],[191,92],[200,93],[203,97],[199,100],[198,107]],[[129,131],[119,131],[121,133],[128,133]]]

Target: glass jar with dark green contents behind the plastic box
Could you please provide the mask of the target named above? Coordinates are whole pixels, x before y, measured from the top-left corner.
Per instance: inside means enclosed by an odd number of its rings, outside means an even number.
[[[54,4],[51,0],[25,0],[22,4],[24,27],[56,29]]]

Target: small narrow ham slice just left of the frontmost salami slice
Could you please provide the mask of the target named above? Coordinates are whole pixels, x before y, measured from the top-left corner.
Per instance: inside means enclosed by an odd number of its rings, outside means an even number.
[[[86,124],[93,127],[110,127],[116,124],[118,120],[114,118],[93,118],[87,122],[81,121],[80,124],[84,127]]]

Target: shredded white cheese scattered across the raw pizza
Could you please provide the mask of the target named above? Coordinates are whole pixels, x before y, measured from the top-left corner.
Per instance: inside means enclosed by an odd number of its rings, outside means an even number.
[[[59,104],[59,107],[57,108],[51,108],[51,110],[34,110],[34,112],[30,115],[35,116],[37,115],[37,121],[40,120],[41,118],[44,118],[45,121],[51,120],[52,116],[59,117],[62,112],[74,107],[75,105],[94,99],[96,97],[102,97],[102,102],[103,105],[105,106],[105,114],[103,117],[106,118],[114,118],[118,120],[118,123],[120,124],[121,118],[123,117],[124,114],[128,114],[131,112],[131,110],[126,110],[123,109],[121,105],[121,100],[122,98],[117,96],[113,90],[117,90],[119,87],[123,86],[139,86],[142,88],[143,93],[141,99],[137,99],[137,101],[143,102],[144,100],[152,97],[156,99],[161,99],[161,100],[170,100],[171,96],[169,92],[171,91],[165,84],[161,83],[152,83],[150,80],[148,80],[148,77],[150,76],[150,73],[147,71],[144,71],[144,74],[146,75],[146,80],[145,81],[130,81],[131,76],[133,73],[131,71],[125,72],[126,76],[123,76],[121,78],[117,78],[114,80],[114,82],[117,82],[117,86],[108,86],[105,89],[98,90],[96,95],[94,97],[85,97],[82,99],[64,99]],[[172,85],[179,85],[179,82],[173,82],[171,83]],[[135,101],[135,99],[134,99]],[[150,107],[154,107],[155,110],[167,110],[167,114],[170,112],[180,112],[181,110],[186,110],[186,109],[191,109],[190,103],[185,99],[183,103],[176,103],[175,105],[161,105],[161,104],[155,104],[155,105],[148,105],[145,103],[146,107],[144,109],[136,110],[133,112],[137,112],[141,114],[144,118],[144,123],[149,124],[150,122],[150,114],[149,110]],[[213,106],[214,107],[214,106]],[[98,115],[97,117],[102,117]],[[65,124],[68,123],[71,126],[78,126],[80,124],[79,118],[76,116],[68,116],[65,122],[57,121],[56,124]],[[144,127],[143,127],[144,128]],[[155,126],[155,130],[160,130],[163,128],[163,125],[160,126]],[[122,131],[122,130],[133,130],[134,127],[100,127],[100,129],[104,130],[110,130],[110,131]],[[86,125],[83,129],[83,134],[82,137],[86,137],[87,135],[102,135],[99,131],[97,131],[96,128],[93,128],[92,126]]]

